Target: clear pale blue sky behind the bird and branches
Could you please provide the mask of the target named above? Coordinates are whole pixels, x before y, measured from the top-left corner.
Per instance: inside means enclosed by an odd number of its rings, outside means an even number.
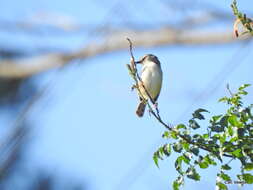
[[[76,23],[100,24],[117,16],[117,11],[108,14],[108,10],[117,3],[116,0],[108,3],[98,0],[26,0],[22,3],[8,1],[5,2],[6,7],[1,12],[1,17],[22,20],[37,12],[48,11],[67,15]],[[230,11],[230,1],[219,1],[215,4]],[[247,10],[251,4],[250,1],[243,1],[240,2],[240,7]],[[13,8],[13,5],[16,7]],[[140,8],[140,11],[131,14],[132,18],[136,18],[138,22],[151,22],[151,18],[152,22],[164,20],[164,17],[159,15],[149,17],[150,19],[145,16],[145,10],[154,6],[153,1],[147,1],[145,6],[145,9]],[[134,1],[129,5],[128,11],[133,12],[136,7],[141,5]],[[117,19],[113,20],[116,22]],[[121,21],[124,22],[122,19]],[[8,36],[9,34],[2,34],[0,40],[6,40]],[[55,39],[45,35],[39,39],[18,34],[17,37],[15,40],[19,43],[27,41],[30,48],[36,45],[54,47],[60,44],[63,48],[74,49],[90,41],[83,36]],[[7,41],[9,44],[15,44],[15,40]],[[134,42],[134,39],[132,40]],[[134,54],[140,57],[153,53],[159,57],[164,73],[159,97],[161,115],[165,121],[176,124],[186,122],[191,112],[198,107],[209,109],[213,113],[222,112],[225,107],[218,104],[217,99],[228,95],[225,89],[227,83],[232,89],[244,83],[252,83],[253,55],[251,51],[247,52],[252,45],[245,49],[241,46],[241,43],[219,46],[166,46],[135,49]],[[245,58],[237,60],[235,56],[234,60],[231,60],[234,54],[240,57],[243,52],[246,52]],[[41,88],[48,84],[50,87],[29,114],[34,130],[27,159],[32,166],[75,176],[88,182],[90,189],[94,190],[114,190],[122,180],[124,188],[129,190],[171,188],[171,183],[176,178],[175,157],[163,161],[160,169],[157,169],[152,161],[153,152],[158,145],[164,143],[161,141],[164,129],[148,114],[142,119],[136,117],[138,99],[136,93],[130,90],[132,81],[125,67],[128,61],[129,52],[119,51],[87,59],[81,64],[69,65],[61,71],[51,71],[36,78]],[[219,75],[225,75],[225,79],[218,83],[215,92],[204,94],[203,99],[196,102],[195,99],[200,93],[206,89],[208,92],[219,81],[216,75],[224,65],[233,64],[233,61],[238,65],[229,66]],[[231,68],[235,69],[230,72]],[[249,91],[252,94],[252,87]],[[252,99],[252,95],[248,100],[250,98]],[[182,116],[182,113],[185,114]],[[236,170],[237,165],[234,167]],[[131,176],[125,178],[129,171],[134,180],[131,186],[127,186],[132,180]],[[211,171],[201,172],[201,182],[186,181],[183,189],[213,188],[216,171],[216,168],[212,168]],[[138,178],[134,174],[138,174]],[[236,186],[229,187],[236,189]]]

